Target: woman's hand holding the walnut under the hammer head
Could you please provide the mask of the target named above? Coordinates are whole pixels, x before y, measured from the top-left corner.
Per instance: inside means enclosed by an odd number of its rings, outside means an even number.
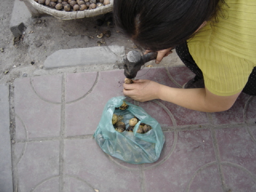
[[[124,83],[124,95],[140,102],[159,99],[161,84],[147,79],[132,80],[132,84]]]

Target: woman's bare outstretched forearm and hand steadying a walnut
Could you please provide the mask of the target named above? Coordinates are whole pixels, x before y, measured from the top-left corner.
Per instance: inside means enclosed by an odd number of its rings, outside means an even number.
[[[161,99],[188,109],[218,112],[233,106],[238,95],[223,97],[207,89],[179,89],[150,80],[134,80],[133,84],[124,84],[124,94],[137,101]]]

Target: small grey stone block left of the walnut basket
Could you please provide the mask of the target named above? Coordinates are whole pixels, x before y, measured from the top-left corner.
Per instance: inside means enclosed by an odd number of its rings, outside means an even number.
[[[10,29],[14,37],[22,35],[24,23],[31,17],[31,14],[25,3],[15,0],[12,10],[12,17],[10,21]]]

